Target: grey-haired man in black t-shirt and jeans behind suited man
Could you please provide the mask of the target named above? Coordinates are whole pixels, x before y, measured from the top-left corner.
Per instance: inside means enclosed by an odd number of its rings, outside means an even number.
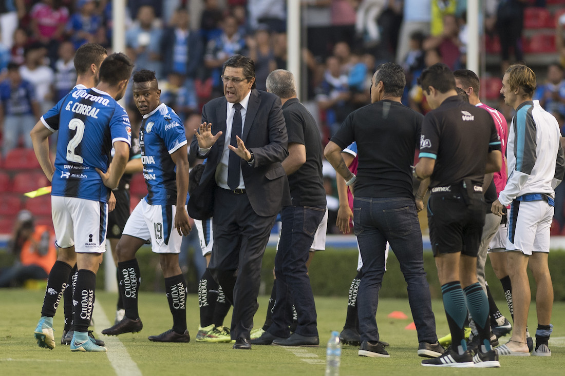
[[[325,213],[321,170],[321,139],[316,121],[296,98],[294,76],[277,69],[267,77],[267,91],[281,98],[288,133],[288,157],[282,167],[288,176],[292,206],[282,208],[279,250],[275,256],[276,303],[272,324],[253,344],[318,346],[314,295],[306,261],[314,234]],[[290,335],[292,301],[298,326]]]

